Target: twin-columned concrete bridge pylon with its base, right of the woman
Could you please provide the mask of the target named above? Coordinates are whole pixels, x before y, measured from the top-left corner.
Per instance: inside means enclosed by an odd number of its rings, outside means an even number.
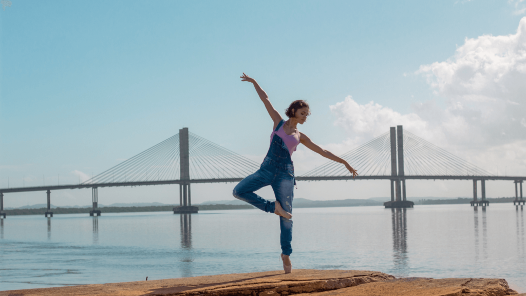
[[[397,149],[398,148],[398,149]],[[397,173],[398,150],[398,173]],[[414,203],[406,198],[406,178],[403,170],[402,126],[391,126],[391,201],[383,203],[386,209],[412,208]],[[396,194],[395,194],[396,192]],[[395,199],[396,197],[396,199]]]

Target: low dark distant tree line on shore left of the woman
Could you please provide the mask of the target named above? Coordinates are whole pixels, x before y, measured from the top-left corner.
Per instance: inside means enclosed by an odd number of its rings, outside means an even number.
[[[99,208],[103,213],[124,213],[124,212],[169,212],[172,211],[175,205],[161,205],[161,206],[105,206]],[[229,204],[205,204],[196,205],[199,211],[213,211],[213,210],[242,210],[254,209],[254,206],[249,204],[229,205]],[[89,213],[93,208],[54,208],[50,211],[53,214],[83,214]],[[40,209],[13,209],[4,210],[7,215],[44,215],[47,212],[46,208]]]

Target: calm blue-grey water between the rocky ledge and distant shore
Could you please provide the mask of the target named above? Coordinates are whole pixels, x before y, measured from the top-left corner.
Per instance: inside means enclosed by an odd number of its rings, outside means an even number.
[[[492,204],[295,209],[294,268],[504,278],[526,291],[524,210]],[[259,210],[8,216],[0,290],[279,270],[278,216]]]

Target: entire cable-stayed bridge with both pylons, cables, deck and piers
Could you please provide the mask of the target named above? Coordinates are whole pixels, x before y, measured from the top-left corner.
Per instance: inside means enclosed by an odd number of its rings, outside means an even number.
[[[488,204],[485,200],[486,180],[511,180],[515,183],[515,202],[524,204],[522,183],[526,176],[490,174],[417,135],[403,131],[401,125],[391,127],[389,132],[340,157],[355,167],[360,175],[353,179],[345,166],[329,161],[296,176],[296,180],[390,180],[391,201],[385,204],[388,208],[412,207],[412,202],[406,198],[406,180],[473,180],[472,205]],[[191,206],[191,183],[239,182],[258,169],[259,163],[190,133],[185,127],[169,139],[83,183],[0,189],[0,216],[5,217],[4,193],[46,191],[46,216],[52,216],[52,190],[92,188],[93,210],[90,215],[100,215],[98,188],[162,184],[179,184],[180,206],[174,208],[174,213],[193,213],[197,212],[197,207]],[[481,200],[477,197],[478,181],[481,183]]]

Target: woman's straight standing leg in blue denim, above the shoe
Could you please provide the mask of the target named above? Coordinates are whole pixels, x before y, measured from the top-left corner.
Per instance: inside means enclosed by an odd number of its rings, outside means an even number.
[[[274,194],[276,195],[276,201],[279,202],[281,207],[292,213],[292,199],[294,199],[294,180],[281,179],[272,184]],[[281,229],[280,243],[281,251],[284,255],[290,255],[292,253],[292,219],[286,219],[279,217],[279,226]]]

